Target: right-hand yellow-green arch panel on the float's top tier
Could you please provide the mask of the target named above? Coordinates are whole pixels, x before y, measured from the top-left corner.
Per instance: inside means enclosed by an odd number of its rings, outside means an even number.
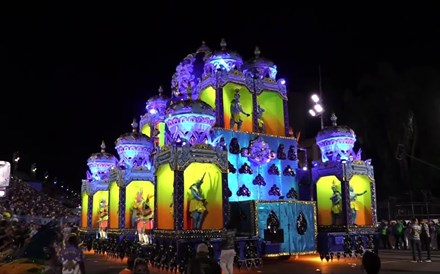
[[[280,94],[263,91],[257,97],[258,104],[264,109],[263,121],[265,133],[286,136],[284,127],[284,101]]]

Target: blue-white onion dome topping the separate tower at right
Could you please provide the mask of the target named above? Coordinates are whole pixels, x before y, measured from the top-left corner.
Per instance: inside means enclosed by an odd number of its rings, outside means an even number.
[[[323,162],[348,160],[354,155],[356,134],[348,126],[338,126],[337,119],[333,113],[330,118],[332,126],[325,127],[316,136],[316,144],[321,150]]]

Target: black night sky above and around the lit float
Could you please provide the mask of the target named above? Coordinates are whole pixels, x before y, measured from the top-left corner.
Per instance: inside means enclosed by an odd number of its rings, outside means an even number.
[[[224,37],[244,58],[258,45],[291,92],[315,89],[322,64],[327,109],[337,112],[341,92],[379,62],[439,63],[435,5],[202,3],[4,10],[1,160],[20,151],[23,170],[35,162],[79,190],[101,140],[114,153],[114,141],[159,85],[169,93],[175,67],[202,40],[218,49]]]

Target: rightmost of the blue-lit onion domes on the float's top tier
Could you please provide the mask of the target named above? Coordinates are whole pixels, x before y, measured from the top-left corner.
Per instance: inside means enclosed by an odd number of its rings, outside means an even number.
[[[254,77],[270,78],[276,80],[277,66],[274,62],[264,57],[261,57],[261,51],[259,47],[255,47],[255,57],[246,62],[245,74],[251,74]]]

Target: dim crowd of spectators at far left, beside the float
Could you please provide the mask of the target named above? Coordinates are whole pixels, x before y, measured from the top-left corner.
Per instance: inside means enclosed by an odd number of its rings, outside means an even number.
[[[0,211],[0,273],[52,273],[59,267],[64,227],[78,228],[75,209],[11,179]]]

